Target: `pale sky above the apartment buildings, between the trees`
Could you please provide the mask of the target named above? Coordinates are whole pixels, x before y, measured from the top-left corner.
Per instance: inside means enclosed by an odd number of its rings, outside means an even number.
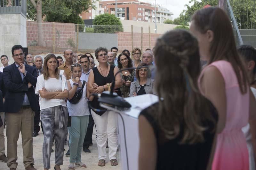
[[[108,0],[103,0],[108,1]],[[139,0],[142,2],[148,2],[155,4],[155,0]],[[179,17],[180,12],[185,8],[185,4],[188,4],[189,0],[156,0],[156,4],[159,4],[162,7],[166,7],[169,11],[173,13],[172,19]]]

